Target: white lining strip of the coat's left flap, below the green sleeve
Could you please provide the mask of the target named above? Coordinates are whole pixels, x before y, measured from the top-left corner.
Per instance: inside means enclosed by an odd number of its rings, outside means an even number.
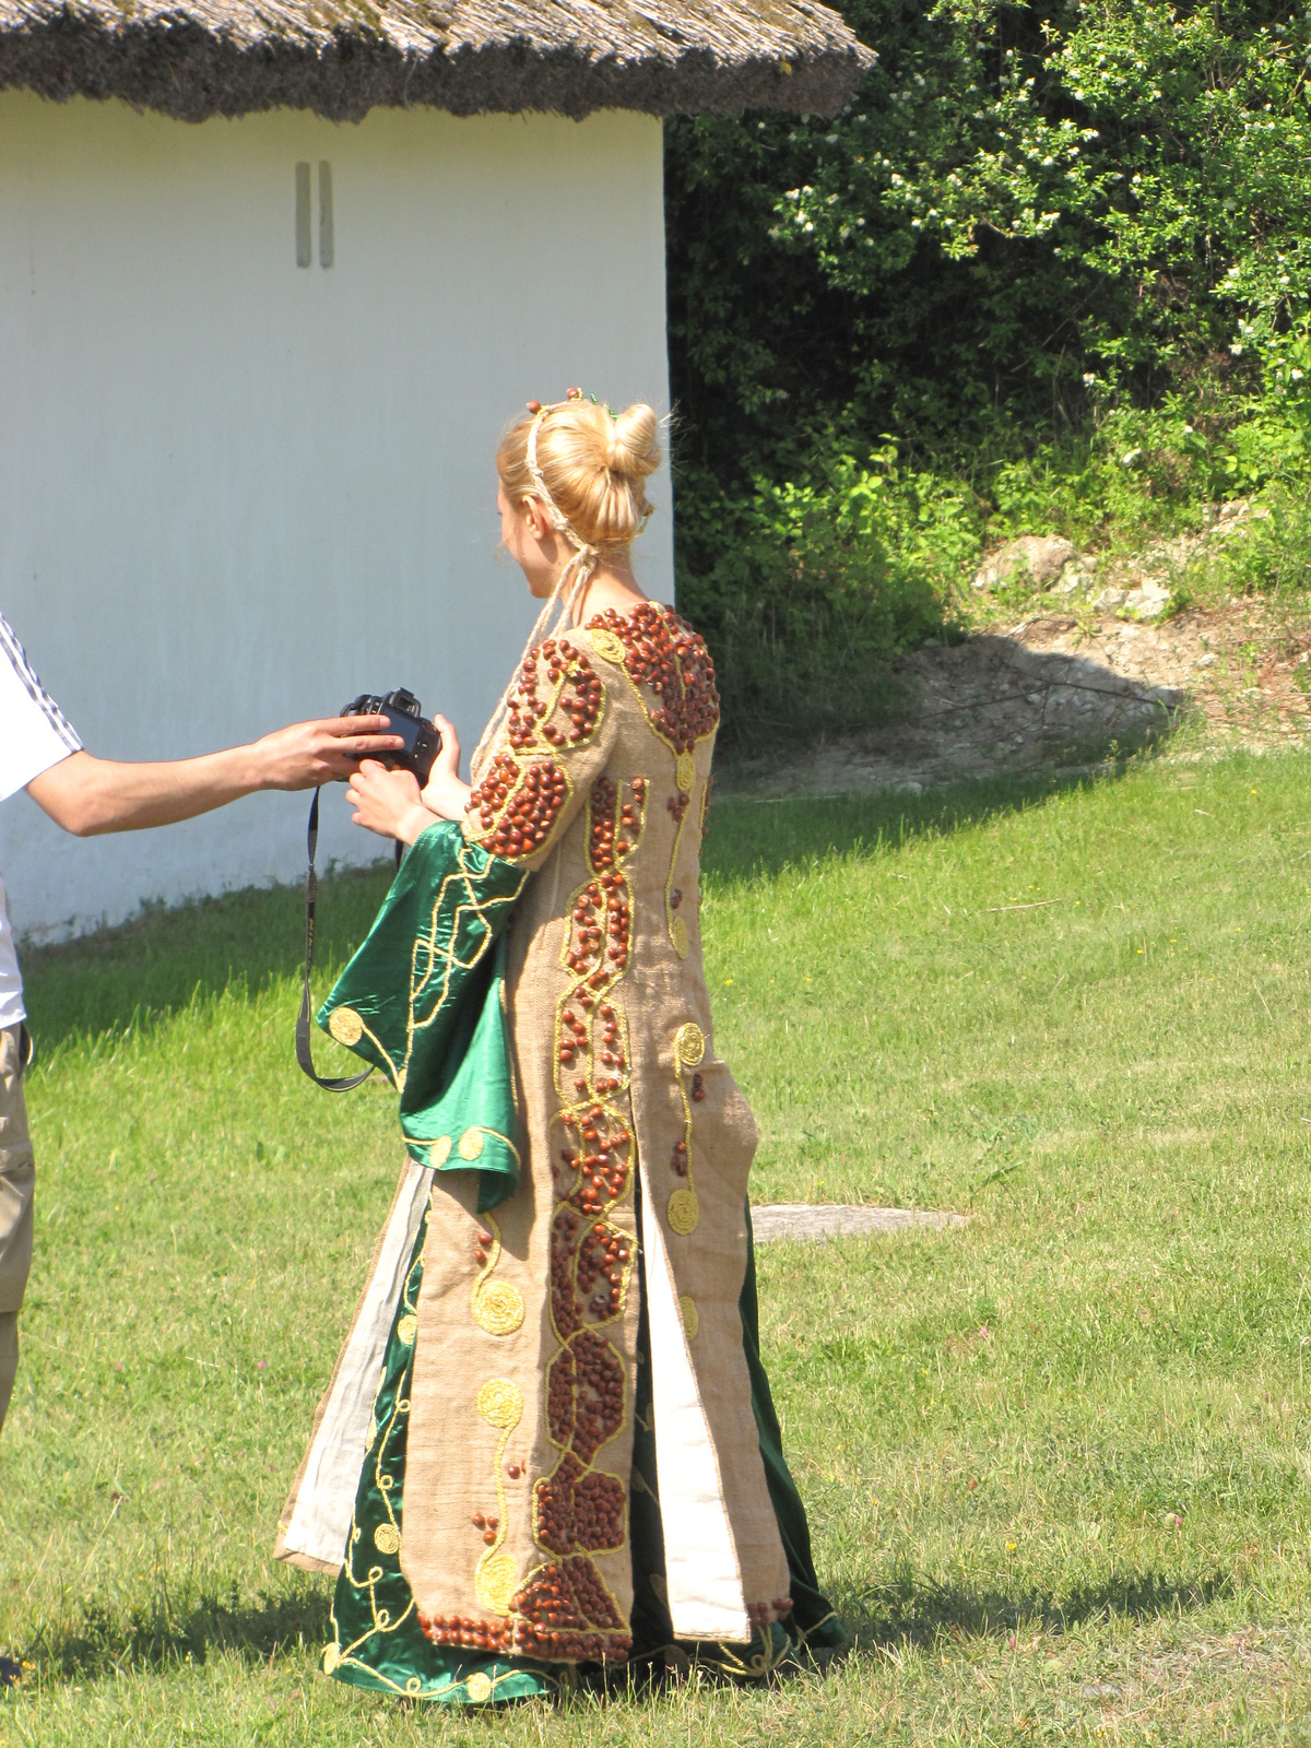
[[[432,1166],[418,1166],[411,1159],[406,1182],[392,1206],[378,1267],[351,1328],[327,1412],[309,1447],[304,1481],[287,1526],[288,1554],[308,1554],[322,1561],[341,1561],[346,1554],[386,1337],[430,1190]]]

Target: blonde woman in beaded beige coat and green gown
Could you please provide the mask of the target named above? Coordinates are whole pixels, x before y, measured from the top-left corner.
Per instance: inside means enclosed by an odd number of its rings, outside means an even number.
[[[358,1687],[848,1643],[757,1353],[755,1124],[701,965],[715,673],[629,563],[657,465],[650,407],[530,404],[498,502],[545,608],[474,788],[442,718],[423,794],[351,781],[411,850],[318,1017],[392,1077],[409,1159],[278,1554],[337,1575],[323,1668]]]

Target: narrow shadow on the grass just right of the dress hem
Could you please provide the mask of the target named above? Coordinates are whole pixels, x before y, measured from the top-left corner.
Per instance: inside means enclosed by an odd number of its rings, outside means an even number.
[[[1051,1591],[968,1591],[937,1584],[925,1573],[904,1573],[886,1584],[836,1601],[858,1648],[932,1645],[942,1638],[967,1640],[1014,1633],[1035,1624],[1049,1633],[1096,1620],[1154,1620],[1180,1615],[1231,1596],[1232,1575],[1166,1577],[1131,1573],[1108,1584],[1080,1585],[1063,1596]]]

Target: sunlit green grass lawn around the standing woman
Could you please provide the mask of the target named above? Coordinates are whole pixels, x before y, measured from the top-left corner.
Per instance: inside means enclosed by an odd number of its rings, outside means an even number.
[[[755,1199],[974,1215],[760,1252],[857,1654],[489,1718],[315,1675],[273,1528],[399,1147],[295,1070],[297,893],[241,893],[28,956],[0,1741],[1311,1743],[1311,766],[724,801],[706,851]]]

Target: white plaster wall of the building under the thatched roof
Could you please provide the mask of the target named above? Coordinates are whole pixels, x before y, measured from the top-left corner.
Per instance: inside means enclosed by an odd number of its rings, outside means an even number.
[[[295,163],[336,262],[295,266]],[[203,126],[0,94],[0,610],[86,745],[180,757],[409,685],[465,752],[531,624],[493,454],[572,383],[664,411],[661,126]],[[668,472],[640,549],[673,600]],[[325,794],[320,858],[383,848]],[[19,795],[19,930],[295,879],[306,797],[77,841]]]

